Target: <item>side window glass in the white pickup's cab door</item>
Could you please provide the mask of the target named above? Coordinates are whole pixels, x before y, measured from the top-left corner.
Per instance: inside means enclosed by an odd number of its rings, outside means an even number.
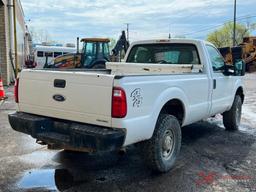
[[[214,72],[220,72],[223,70],[223,67],[225,65],[223,57],[220,55],[220,53],[217,51],[216,48],[207,45],[207,50],[211,59],[212,63],[212,69]]]

